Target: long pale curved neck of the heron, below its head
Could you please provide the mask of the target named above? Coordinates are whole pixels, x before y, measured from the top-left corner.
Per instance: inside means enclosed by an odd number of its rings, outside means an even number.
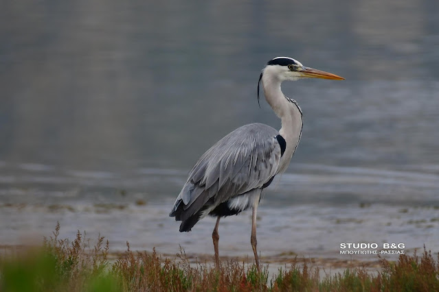
[[[278,173],[288,167],[302,134],[302,111],[294,99],[289,99],[282,93],[281,83],[282,80],[275,74],[264,72],[262,75],[262,88],[264,89],[265,99],[280,118],[282,127],[279,134],[286,141],[286,149],[280,160]]]

